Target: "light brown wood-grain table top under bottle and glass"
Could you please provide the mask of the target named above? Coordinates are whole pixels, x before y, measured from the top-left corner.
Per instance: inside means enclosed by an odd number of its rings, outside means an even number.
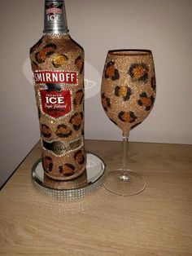
[[[87,140],[107,171],[120,167],[121,143]],[[57,201],[33,188],[39,143],[0,192],[2,255],[192,255],[192,145],[129,143],[129,167],[147,187],[137,196],[100,188]]]

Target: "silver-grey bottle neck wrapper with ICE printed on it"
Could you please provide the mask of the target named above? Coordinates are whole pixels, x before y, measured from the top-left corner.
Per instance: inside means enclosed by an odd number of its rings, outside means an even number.
[[[68,34],[64,0],[45,0],[45,34]]]

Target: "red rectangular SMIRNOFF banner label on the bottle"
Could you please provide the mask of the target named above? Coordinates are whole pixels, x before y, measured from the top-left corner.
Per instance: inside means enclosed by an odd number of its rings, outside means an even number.
[[[33,73],[35,83],[64,83],[76,84],[76,72],[66,71],[35,71]]]

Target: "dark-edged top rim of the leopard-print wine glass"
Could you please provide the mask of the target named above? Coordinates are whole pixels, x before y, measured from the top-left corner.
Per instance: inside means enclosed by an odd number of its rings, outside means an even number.
[[[152,55],[152,51],[146,50],[146,49],[120,49],[120,50],[109,50],[107,55],[117,55],[117,56]]]

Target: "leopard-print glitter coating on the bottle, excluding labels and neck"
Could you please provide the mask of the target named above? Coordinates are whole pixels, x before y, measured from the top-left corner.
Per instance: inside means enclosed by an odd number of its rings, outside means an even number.
[[[34,84],[41,131],[41,140],[47,143],[70,144],[81,139],[81,145],[57,155],[42,147],[42,165],[50,179],[70,180],[85,170],[84,147],[84,51],[68,34],[45,34],[30,51],[33,73],[37,71],[72,71],[77,73],[76,84],[59,83],[49,90],[68,90],[71,95],[71,109],[59,118],[43,112],[41,90],[47,90],[45,83]],[[54,85],[54,86],[55,86]],[[49,85],[51,86],[51,84]],[[77,156],[78,155],[78,156]]]

